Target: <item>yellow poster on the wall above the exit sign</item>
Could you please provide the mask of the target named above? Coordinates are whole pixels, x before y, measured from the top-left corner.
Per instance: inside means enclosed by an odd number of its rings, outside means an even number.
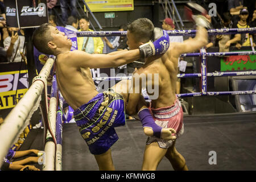
[[[133,0],[108,0],[108,1],[95,1],[85,0],[92,12],[101,11],[133,11],[134,3]]]

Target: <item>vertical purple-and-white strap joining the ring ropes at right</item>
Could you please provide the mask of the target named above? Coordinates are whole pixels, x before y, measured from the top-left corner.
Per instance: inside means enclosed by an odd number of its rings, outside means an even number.
[[[201,92],[203,95],[207,93],[207,65],[206,65],[206,50],[203,48],[201,53]]]

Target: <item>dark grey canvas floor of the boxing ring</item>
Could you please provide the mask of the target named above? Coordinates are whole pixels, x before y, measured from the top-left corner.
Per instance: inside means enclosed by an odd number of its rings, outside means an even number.
[[[40,129],[39,129],[40,130]],[[43,146],[43,130],[31,131],[37,137],[30,148]],[[117,127],[119,140],[112,147],[117,170],[141,170],[146,136],[139,121]],[[29,141],[29,140],[28,140]],[[27,141],[27,143],[28,143]],[[21,150],[26,150],[26,141]],[[184,134],[176,142],[191,170],[256,170],[256,114],[220,114],[184,117]],[[217,164],[209,164],[209,152],[216,151]],[[98,170],[94,156],[75,123],[63,126],[63,170]],[[163,159],[158,170],[173,170]]]

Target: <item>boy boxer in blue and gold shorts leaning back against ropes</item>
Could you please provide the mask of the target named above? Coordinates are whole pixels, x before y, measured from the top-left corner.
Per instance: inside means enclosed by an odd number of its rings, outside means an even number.
[[[114,127],[125,125],[127,96],[121,92],[98,93],[90,68],[118,67],[141,58],[162,55],[168,49],[169,36],[163,30],[158,33],[154,42],[147,42],[132,51],[91,55],[84,51],[71,51],[72,41],[48,23],[34,31],[32,42],[36,49],[57,58],[57,85],[65,101],[73,108],[80,133],[100,170],[114,170],[110,147],[118,139]],[[171,129],[154,128],[154,123],[148,125],[156,136],[168,134],[171,138]]]

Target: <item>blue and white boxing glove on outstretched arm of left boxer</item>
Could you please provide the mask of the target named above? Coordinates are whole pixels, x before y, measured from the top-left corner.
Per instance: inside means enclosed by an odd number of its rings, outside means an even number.
[[[139,46],[141,58],[147,58],[154,55],[162,55],[165,53],[170,44],[170,39],[167,31],[161,28],[154,28],[154,42],[151,41]]]

